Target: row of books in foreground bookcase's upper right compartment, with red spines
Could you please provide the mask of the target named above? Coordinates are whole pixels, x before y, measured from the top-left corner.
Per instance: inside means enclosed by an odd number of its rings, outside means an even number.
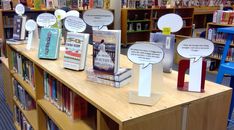
[[[76,120],[87,116],[88,102],[44,72],[44,98]]]

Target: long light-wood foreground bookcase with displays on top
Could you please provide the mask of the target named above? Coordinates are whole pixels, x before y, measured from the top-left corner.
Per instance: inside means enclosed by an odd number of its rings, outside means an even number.
[[[177,91],[177,72],[164,74],[162,86],[164,95],[153,106],[130,104],[128,91],[131,84],[114,88],[86,80],[84,71],[72,71],[63,68],[64,51],[60,51],[57,60],[41,60],[37,50],[25,50],[26,45],[7,45],[9,68],[13,68],[12,52],[18,52],[29,59],[35,71],[35,97],[37,113],[35,118],[27,120],[39,130],[46,130],[46,118],[49,117],[62,130],[189,130],[226,128],[231,89],[206,81],[205,93]],[[63,47],[62,47],[63,48]],[[89,46],[87,66],[92,63],[92,46]],[[126,56],[121,55],[121,67],[132,67]],[[43,74],[49,73],[88,102],[88,115],[72,121],[66,114],[44,99]],[[12,73],[11,73],[12,75]],[[13,76],[12,76],[13,77]],[[27,91],[27,89],[26,89]],[[14,100],[15,101],[15,100]],[[17,101],[15,101],[17,105]],[[218,112],[217,112],[218,111]],[[33,115],[32,114],[32,115]],[[32,120],[32,121],[30,121]],[[205,123],[204,123],[205,122]],[[16,126],[18,127],[18,126]]]

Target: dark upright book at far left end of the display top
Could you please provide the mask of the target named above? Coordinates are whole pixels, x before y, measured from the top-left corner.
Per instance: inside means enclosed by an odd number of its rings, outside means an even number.
[[[14,26],[13,26],[13,39],[14,40],[24,40],[25,39],[25,23],[26,23],[26,16],[14,16]]]

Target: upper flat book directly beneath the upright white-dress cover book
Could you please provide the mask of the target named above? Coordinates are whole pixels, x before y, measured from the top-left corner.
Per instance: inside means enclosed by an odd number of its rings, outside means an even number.
[[[119,72],[112,75],[112,74],[104,74],[99,71],[94,71],[93,68],[87,68],[86,69],[87,75],[95,75],[96,77],[100,79],[106,79],[106,80],[112,80],[112,81],[122,81],[126,79],[127,77],[132,75],[132,70],[129,68],[120,68]]]

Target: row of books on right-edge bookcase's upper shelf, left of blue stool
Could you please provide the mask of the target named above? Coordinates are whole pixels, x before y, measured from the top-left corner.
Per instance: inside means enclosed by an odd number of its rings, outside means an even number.
[[[220,42],[224,43],[227,39],[226,33],[217,32],[217,28],[209,28],[208,29],[208,35],[207,39],[211,40],[213,42]]]

